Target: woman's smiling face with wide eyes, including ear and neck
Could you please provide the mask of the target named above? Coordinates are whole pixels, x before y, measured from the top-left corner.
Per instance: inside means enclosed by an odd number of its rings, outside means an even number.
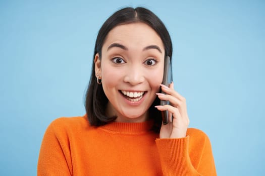
[[[112,29],[95,56],[95,73],[109,99],[107,116],[117,122],[143,122],[163,79],[165,49],[161,38],[144,23]]]

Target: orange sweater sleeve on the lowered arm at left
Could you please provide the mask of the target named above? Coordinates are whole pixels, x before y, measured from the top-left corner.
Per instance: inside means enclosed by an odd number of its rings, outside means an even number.
[[[52,122],[43,137],[40,147],[37,175],[72,175],[71,153],[67,134],[58,123]],[[56,124],[56,125],[55,125]]]

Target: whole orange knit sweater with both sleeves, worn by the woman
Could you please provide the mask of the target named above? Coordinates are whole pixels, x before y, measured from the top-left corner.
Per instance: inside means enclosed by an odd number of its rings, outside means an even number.
[[[47,128],[38,175],[216,175],[208,137],[189,128],[158,139],[151,121],[91,127],[87,116],[59,118]]]

